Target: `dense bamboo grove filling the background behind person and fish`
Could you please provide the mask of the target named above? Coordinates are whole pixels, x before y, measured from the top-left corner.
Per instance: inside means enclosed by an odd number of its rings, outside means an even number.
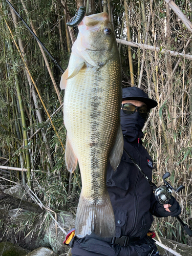
[[[122,42],[122,86],[138,86],[158,101],[143,128],[143,142],[155,163],[154,181],[162,185],[168,171],[174,187],[185,186],[174,196],[181,218],[191,225],[191,1],[10,2],[63,70],[78,33],[66,23],[79,6],[86,6],[89,15],[109,12]],[[47,207],[74,212],[81,183],[78,168],[69,175],[65,166],[61,72],[4,0],[0,18],[0,165],[22,168],[1,169],[0,188],[28,185]],[[176,219],[156,218],[154,229],[191,245]]]

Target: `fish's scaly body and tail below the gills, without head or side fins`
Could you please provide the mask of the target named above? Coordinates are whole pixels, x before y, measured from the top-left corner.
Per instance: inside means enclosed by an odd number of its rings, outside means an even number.
[[[82,69],[68,80],[64,122],[78,159],[82,190],[75,232],[115,235],[115,219],[108,191],[106,166],[120,125],[121,70],[117,61],[97,69]]]

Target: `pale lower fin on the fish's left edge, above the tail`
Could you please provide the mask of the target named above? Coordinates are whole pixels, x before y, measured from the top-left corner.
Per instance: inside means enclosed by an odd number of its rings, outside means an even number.
[[[66,166],[67,169],[69,170],[70,173],[73,173],[74,170],[76,169],[77,166],[77,158],[73,152],[73,148],[70,144],[70,141],[67,136],[66,140],[66,154],[65,154],[65,159],[66,159]]]

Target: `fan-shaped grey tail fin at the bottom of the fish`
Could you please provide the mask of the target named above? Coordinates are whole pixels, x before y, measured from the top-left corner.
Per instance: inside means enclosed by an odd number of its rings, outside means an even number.
[[[98,204],[90,204],[80,196],[75,219],[75,234],[78,238],[94,232],[100,237],[115,236],[115,217],[109,194],[105,194]]]

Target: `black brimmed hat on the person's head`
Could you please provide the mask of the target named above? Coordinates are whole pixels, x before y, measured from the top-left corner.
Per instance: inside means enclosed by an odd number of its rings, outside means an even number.
[[[148,98],[148,95],[138,87],[126,87],[122,89],[122,100],[139,100],[147,105],[148,109],[153,109],[157,106],[157,101]]]

